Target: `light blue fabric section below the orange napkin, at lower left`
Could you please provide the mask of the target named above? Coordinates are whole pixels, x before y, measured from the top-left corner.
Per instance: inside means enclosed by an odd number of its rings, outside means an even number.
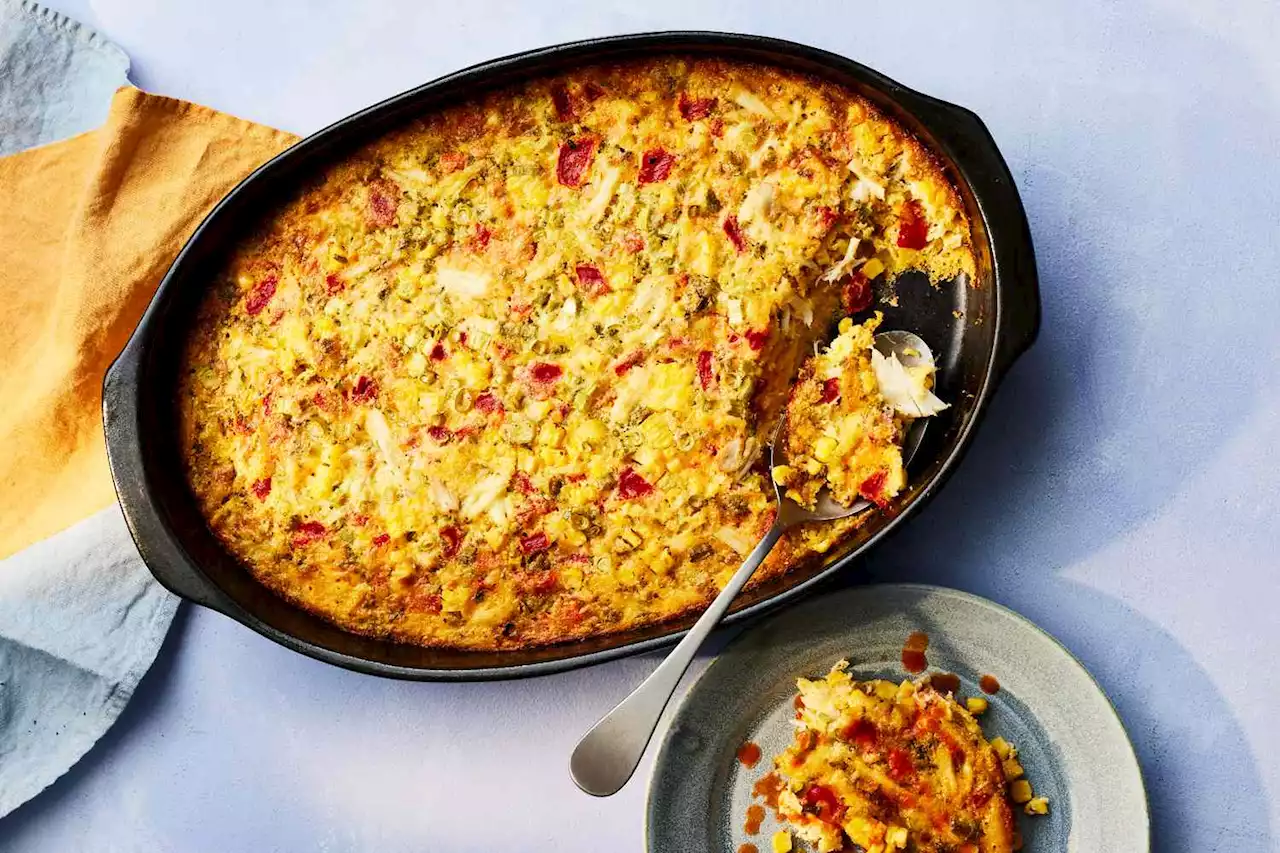
[[[111,727],[177,606],[141,565],[119,507],[0,565],[0,816]]]

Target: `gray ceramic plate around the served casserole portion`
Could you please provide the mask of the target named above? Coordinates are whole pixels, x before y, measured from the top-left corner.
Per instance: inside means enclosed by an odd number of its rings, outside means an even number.
[[[791,739],[799,676],[845,658],[855,678],[902,679],[902,643],[929,635],[929,671],[1001,684],[982,717],[987,736],[1014,743],[1051,813],[1018,824],[1027,853],[1149,850],[1147,798],[1133,747],[1093,678],[1061,644],[1018,613],[952,589],[890,584],[815,598],[736,639],[685,697],[654,763],[645,821],[652,853],[769,850],[772,815],[758,835],[742,829],[751,785]],[[735,754],[760,745],[754,770]],[[804,849],[797,845],[797,849]]]

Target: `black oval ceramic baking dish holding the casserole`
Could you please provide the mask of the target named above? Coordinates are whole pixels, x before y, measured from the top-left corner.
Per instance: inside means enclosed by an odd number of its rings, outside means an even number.
[[[915,133],[960,188],[974,225],[977,280],[941,289],[899,279],[883,328],[925,338],[940,361],[938,393],[952,402],[931,423],[910,488],[823,560],[748,590],[728,617],[795,601],[902,525],[960,461],[997,383],[1036,338],[1039,293],[1027,216],[1009,169],[977,115],[914,92],[849,59],[759,36],[664,32],[534,50],[420,86],[307,137],[236,187],[196,229],[106,374],[102,412],[111,474],[138,549],[165,587],[315,658],[376,675],[477,680],[554,672],[676,642],[681,621],[513,652],[431,649],[348,634],[261,587],[205,526],[179,462],[174,387],[195,307],[228,246],[300,183],[404,120],[479,92],[573,67],[654,54],[716,55],[772,64],[849,87]]]

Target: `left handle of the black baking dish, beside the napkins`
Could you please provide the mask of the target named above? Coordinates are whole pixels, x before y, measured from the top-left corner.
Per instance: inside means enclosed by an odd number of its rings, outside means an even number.
[[[225,613],[230,602],[196,570],[148,494],[140,441],[140,332],[134,332],[102,380],[102,425],[115,494],[133,543],[155,579],[182,598]]]

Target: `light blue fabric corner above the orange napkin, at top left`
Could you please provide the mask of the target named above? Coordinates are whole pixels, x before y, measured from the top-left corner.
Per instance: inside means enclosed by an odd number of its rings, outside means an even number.
[[[31,0],[0,0],[0,155],[65,140],[106,119],[129,58]]]

